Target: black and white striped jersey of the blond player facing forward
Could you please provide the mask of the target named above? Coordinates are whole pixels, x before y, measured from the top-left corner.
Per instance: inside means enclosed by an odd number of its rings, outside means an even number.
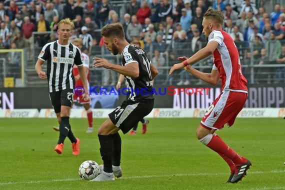
[[[56,40],[46,43],[37,58],[47,60],[46,76],[49,92],[74,88],[73,64],[77,66],[83,64],[78,47],[70,42],[67,45],[60,45]]]

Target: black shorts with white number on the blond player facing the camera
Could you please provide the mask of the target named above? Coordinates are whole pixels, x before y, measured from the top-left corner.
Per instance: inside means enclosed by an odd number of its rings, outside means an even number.
[[[71,107],[73,101],[73,89],[62,89],[59,91],[49,92],[49,98],[54,112],[59,113],[61,105]]]

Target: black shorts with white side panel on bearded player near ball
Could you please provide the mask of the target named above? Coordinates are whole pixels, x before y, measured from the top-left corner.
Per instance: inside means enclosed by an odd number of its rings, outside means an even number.
[[[134,124],[145,115],[150,113],[153,108],[154,99],[132,101],[124,100],[120,106],[109,113],[111,121],[125,134]]]

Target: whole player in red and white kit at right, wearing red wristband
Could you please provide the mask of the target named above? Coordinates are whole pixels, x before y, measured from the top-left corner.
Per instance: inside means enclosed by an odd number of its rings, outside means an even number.
[[[222,12],[208,9],[202,21],[203,34],[208,39],[207,45],[189,58],[178,57],[181,63],[174,64],[169,75],[184,67],[190,74],[209,84],[216,85],[221,80],[221,93],[205,111],[196,136],[226,161],[231,171],[227,182],[235,183],[246,175],[251,162],[231,149],[215,130],[223,128],[226,123],[228,126],[233,124],[247,97],[247,81],[241,72],[237,48],[230,35],[222,30],[222,25]],[[211,73],[200,72],[190,66],[211,54],[214,61]]]

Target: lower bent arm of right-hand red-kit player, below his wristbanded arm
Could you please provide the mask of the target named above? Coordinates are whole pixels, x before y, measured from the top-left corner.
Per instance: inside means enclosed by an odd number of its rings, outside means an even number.
[[[212,69],[211,73],[205,73],[201,72],[190,65],[185,66],[184,69],[191,73],[193,76],[196,76],[197,78],[211,84],[211,85],[216,85],[217,82],[219,81],[219,72],[218,70]]]

